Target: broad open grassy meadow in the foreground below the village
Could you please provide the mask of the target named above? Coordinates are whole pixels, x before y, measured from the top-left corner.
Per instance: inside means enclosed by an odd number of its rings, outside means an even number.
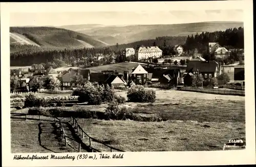
[[[229,139],[245,141],[245,97],[154,89],[157,97],[155,103],[126,103],[125,106],[135,114],[168,118],[166,122],[77,118],[78,123],[90,136],[124,151],[222,150]],[[126,91],[116,90],[116,93],[126,97]],[[102,104],[62,108],[103,112],[106,106]],[[22,109],[12,112],[27,111],[28,109]],[[29,125],[22,122],[18,125],[12,123],[13,131],[17,131],[21,126]],[[33,133],[32,131],[30,133]],[[32,138],[30,140],[28,141],[32,142]],[[12,140],[12,148],[20,147],[16,145],[18,144]],[[95,146],[96,149],[109,151],[100,145]],[[35,149],[40,151],[39,148]],[[226,148],[228,149],[230,148]]]

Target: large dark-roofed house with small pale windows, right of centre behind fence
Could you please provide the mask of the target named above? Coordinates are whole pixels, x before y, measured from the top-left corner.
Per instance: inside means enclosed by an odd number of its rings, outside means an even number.
[[[202,76],[205,80],[216,78],[221,75],[221,65],[216,61],[189,61],[186,68],[184,84],[189,85],[186,81],[193,75]]]

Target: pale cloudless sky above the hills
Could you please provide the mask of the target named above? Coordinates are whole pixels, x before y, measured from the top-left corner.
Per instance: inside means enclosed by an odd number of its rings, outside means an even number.
[[[203,21],[244,21],[243,11],[97,11],[56,13],[10,13],[10,26],[157,25]]]

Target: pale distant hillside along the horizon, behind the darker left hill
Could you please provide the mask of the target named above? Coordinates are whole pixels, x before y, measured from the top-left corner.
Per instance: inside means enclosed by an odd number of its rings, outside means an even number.
[[[243,22],[196,22],[174,25],[133,25],[133,26],[103,26],[103,25],[70,25],[61,28],[77,31],[95,37],[114,45],[130,43],[145,39],[155,39],[160,36],[188,36],[203,31],[225,31],[229,28],[243,27]]]

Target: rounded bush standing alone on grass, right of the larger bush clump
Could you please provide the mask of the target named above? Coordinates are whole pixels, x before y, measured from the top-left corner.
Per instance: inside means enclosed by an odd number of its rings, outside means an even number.
[[[127,92],[129,102],[153,103],[156,101],[156,91],[147,90],[143,86],[133,86]]]

